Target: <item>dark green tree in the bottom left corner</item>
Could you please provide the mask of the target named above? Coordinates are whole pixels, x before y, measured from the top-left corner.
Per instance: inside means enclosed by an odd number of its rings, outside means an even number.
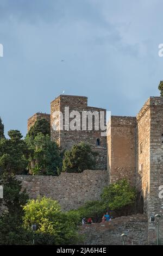
[[[27,203],[26,191],[21,191],[21,182],[14,175],[0,176],[4,199],[0,199],[0,245],[28,245],[32,233],[23,228],[23,205]]]

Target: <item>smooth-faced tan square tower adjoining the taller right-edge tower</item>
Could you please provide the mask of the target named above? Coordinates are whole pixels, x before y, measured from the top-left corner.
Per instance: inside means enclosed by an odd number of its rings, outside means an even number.
[[[109,181],[128,179],[135,185],[135,117],[111,115],[108,124]]]

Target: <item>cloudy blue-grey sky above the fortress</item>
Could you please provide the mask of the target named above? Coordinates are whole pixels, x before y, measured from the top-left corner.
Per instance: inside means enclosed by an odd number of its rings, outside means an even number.
[[[1,0],[0,116],[23,135],[66,94],[135,115],[163,80],[161,0]],[[61,62],[64,60],[64,62]]]

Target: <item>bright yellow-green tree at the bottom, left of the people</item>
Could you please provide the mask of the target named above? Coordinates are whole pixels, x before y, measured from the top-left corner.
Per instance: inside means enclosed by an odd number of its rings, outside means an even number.
[[[72,214],[61,212],[60,205],[51,198],[29,200],[24,206],[24,227],[37,225],[36,244],[71,245],[79,241],[76,222]]]

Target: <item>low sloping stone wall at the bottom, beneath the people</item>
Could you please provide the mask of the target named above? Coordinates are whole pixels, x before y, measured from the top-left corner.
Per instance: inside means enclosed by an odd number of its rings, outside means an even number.
[[[147,216],[136,214],[115,218],[110,222],[86,224],[80,233],[86,235],[85,245],[122,245],[123,233],[127,235],[125,245],[147,245]]]

